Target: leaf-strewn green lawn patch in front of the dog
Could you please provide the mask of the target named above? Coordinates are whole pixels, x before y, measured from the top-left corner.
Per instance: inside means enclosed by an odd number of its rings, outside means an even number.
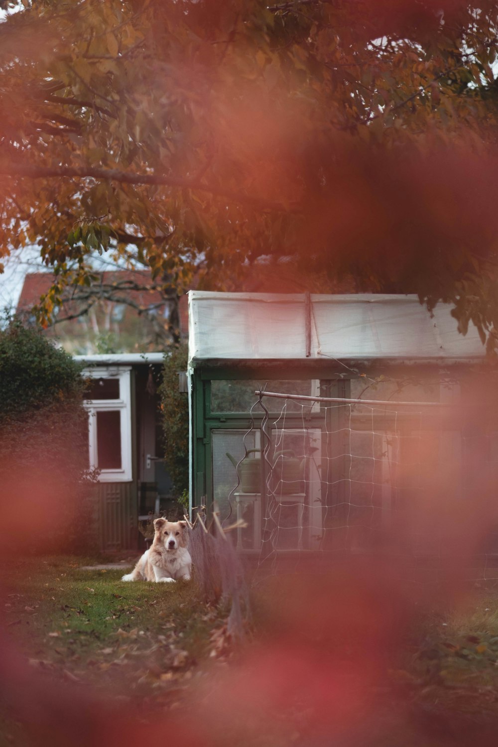
[[[4,568],[4,626],[34,667],[107,693],[172,702],[212,651],[226,610],[189,582],[123,583],[118,570],[83,570],[74,557]]]

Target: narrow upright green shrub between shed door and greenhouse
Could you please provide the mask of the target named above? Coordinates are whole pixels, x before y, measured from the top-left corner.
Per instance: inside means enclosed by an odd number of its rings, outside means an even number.
[[[166,355],[159,387],[166,468],[175,498],[188,490],[188,396],[178,388],[178,372],[187,371],[187,345]]]

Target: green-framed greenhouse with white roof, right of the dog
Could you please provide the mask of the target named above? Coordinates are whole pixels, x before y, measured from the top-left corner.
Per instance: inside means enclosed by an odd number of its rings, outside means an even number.
[[[461,403],[486,367],[477,330],[416,296],[191,291],[193,511],[236,524],[244,553],[361,551],[408,515],[428,549],[416,507],[435,475],[464,494]],[[494,465],[494,427],[479,438]]]

